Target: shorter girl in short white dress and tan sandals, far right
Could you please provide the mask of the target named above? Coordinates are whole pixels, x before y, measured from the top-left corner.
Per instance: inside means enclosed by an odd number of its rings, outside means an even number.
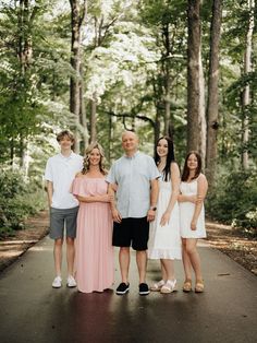
[[[192,291],[192,268],[195,272],[195,292],[204,292],[200,258],[196,249],[197,239],[206,237],[204,199],[208,184],[201,170],[201,158],[197,152],[189,152],[180,186],[180,223],[182,237],[182,258],[185,271],[184,292]]]

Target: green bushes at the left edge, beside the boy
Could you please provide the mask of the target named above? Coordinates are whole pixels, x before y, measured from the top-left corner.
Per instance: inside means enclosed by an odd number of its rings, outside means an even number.
[[[24,220],[46,208],[42,189],[21,173],[0,173],[0,235],[24,227]]]

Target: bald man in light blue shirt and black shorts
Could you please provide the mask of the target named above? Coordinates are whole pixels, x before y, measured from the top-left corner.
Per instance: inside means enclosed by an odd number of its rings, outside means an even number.
[[[154,158],[138,151],[138,138],[134,132],[122,133],[122,147],[125,154],[113,163],[107,177],[111,196],[114,193],[111,185],[118,186],[117,204],[112,203],[114,221],[112,245],[120,247],[119,262],[122,280],[117,294],[123,295],[130,291],[128,269],[132,247],[136,250],[139,295],[148,295],[146,250],[149,222],[156,216],[160,173]]]

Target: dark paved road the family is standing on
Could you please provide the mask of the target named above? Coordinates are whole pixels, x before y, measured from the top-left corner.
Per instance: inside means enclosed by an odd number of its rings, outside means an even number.
[[[139,296],[134,256],[128,294],[82,294],[51,288],[52,243],[45,238],[0,274],[0,342],[256,342],[257,277],[217,250],[199,251],[204,294]],[[182,263],[175,268],[181,288]],[[115,276],[118,284],[118,264]],[[147,276],[160,279],[158,262],[148,263]]]

